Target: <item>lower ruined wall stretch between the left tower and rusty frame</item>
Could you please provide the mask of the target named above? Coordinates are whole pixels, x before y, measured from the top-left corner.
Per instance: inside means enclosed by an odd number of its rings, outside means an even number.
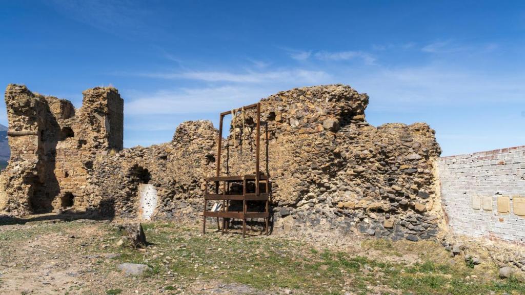
[[[90,181],[102,197],[101,211],[137,217],[139,185],[149,183],[159,196],[154,217],[196,218],[203,206],[204,178],[215,175],[217,134],[210,121],[185,122],[172,142],[101,157]]]

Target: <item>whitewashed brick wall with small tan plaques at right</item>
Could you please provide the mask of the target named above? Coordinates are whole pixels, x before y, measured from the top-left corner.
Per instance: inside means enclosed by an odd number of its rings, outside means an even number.
[[[457,234],[525,243],[525,218],[512,199],[525,197],[525,146],[442,157],[438,160],[443,206]],[[473,209],[472,197],[490,196],[492,210]],[[510,213],[498,213],[497,197],[509,196]]]

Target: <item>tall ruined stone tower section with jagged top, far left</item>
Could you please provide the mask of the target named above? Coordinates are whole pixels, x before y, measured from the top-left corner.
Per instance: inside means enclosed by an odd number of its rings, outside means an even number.
[[[123,100],[111,87],[83,92],[83,105],[25,86],[5,92],[11,157],[0,180],[0,209],[44,213],[90,205],[92,163],[122,150]]]

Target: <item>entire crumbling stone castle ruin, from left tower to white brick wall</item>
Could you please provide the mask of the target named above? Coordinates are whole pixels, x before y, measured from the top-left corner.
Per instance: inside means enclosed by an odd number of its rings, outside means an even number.
[[[7,87],[5,101],[12,154],[2,172],[0,210],[202,214],[204,179],[217,163],[211,122],[182,123],[169,143],[122,149],[117,89],[84,91],[78,110],[19,85]],[[440,148],[427,124],[373,127],[365,120],[369,97],[343,85],[292,89],[260,102],[260,169],[272,184],[274,227],[411,240],[438,234]],[[223,172],[255,173],[254,119],[254,111],[234,114],[222,144]],[[154,208],[141,204],[145,191]]]

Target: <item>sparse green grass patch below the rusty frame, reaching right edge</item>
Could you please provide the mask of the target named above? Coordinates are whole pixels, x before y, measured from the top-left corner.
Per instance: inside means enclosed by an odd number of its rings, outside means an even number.
[[[466,280],[474,270],[464,264],[450,264],[447,253],[433,242],[423,242],[420,249],[414,245],[417,243],[363,242],[365,249],[387,251],[395,256],[408,252],[424,258],[420,263],[407,265],[348,252],[318,250],[305,243],[271,236],[246,239],[218,233],[203,236],[197,229],[175,228],[170,223],[145,224],[144,229],[148,240],[155,245],[155,252],[162,255],[151,258],[151,252],[144,255],[124,249],[119,259],[148,264],[155,276],[176,273],[178,283],[198,278],[241,283],[263,290],[287,288],[323,295],[349,291],[367,294],[371,292],[369,288],[385,294],[397,291],[403,294],[463,295],[491,291],[519,294],[523,291],[518,280]]]

